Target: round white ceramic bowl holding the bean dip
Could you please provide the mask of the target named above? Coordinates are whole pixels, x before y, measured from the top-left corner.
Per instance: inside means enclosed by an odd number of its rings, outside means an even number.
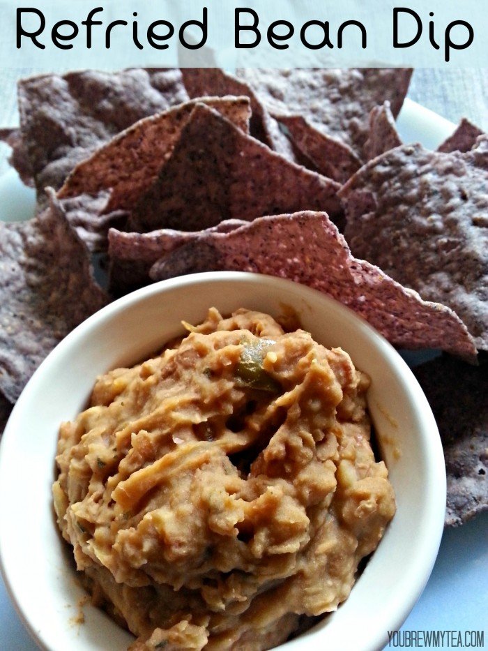
[[[445,509],[443,451],[427,400],[397,352],[363,320],[323,294],[288,280],[212,272],[144,287],[86,320],[49,354],[24,389],[0,447],[0,556],[26,627],[49,651],[122,650],[132,638],[91,605],[73,623],[77,585],[52,511],[59,424],[82,410],[96,375],[134,364],[197,323],[208,307],[270,314],[283,304],[327,346],[342,346],[372,378],[369,409],[397,495],[397,514],[351,595],[289,651],[380,649],[427,582]],[[280,647],[280,648],[283,648]]]

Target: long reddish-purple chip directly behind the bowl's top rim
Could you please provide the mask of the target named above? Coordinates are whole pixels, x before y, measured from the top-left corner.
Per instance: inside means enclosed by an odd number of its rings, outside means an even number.
[[[441,348],[474,361],[473,339],[450,308],[422,301],[381,269],[351,255],[324,213],[266,216],[231,232],[202,232],[155,262],[153,280],[211,270],[289,278],[341,301],[391,343]]]

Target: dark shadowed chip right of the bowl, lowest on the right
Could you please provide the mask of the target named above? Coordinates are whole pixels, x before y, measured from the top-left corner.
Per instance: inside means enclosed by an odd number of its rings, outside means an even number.
[[[447,356],[413,368],[436,417],[448,475],[446,525],[488,509],[488,373]],[[462,387],[462,391],[459,391]]]

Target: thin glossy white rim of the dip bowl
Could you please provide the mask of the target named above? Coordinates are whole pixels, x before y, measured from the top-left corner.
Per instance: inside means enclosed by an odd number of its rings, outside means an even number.
[[[392,347],[392,345],[386,341],[386,338],[379,334],[379,332],[376,331],[374,327],[365,321],[363,317],[353,312],[353,310],[351,310],[349,307],[344,306],[344,304],[341,304],[339,301],[333,299],[327,294],[319,292],[319,290],[315,290],[314,288],[308,287],[307,285],[302,285],[292,280],[288,280],[286,278],[278,278],[276,276],[254,274],[252,272],[243,271],[206,271],[198,274],[188,274],[185,276],[170,278],[168,280],[161,280],[158,283],[147,285],[146,287],[142,287],[139,290],[135,290],[130,294],[126,294],[125,296],[112,301],[91,315],[77,327],[75,327],[73,331],[71,331],[65,338],[63,338],[60,343],[58,343],[58,345],[56,345],[56,347],[54,347],[51,352],[49,352],[47,357],[33,373],[31,379],[26,384],[26,387],[24,387],[20,398],[17,400],[17,403],[15,403],[13,407],[3,436],[1,437],[0,486],[3,481],[3,473],[1,472],[1,469],[8,463],[8,458],[6,458],[6,448],[8,447],[10,440],[15,436],[15,426],[17,424],[17,419],[19,418],[18,414],[20,414],[20,412],[23,410],[24,405],[29,404],[31,396],[36,394],[39,384],[42,383],[43,375],[45,372],[49,371],[49,368],[56,364],[56,361],[59,358],[62,358],[65,354],[67,354],[67,352],[70,350],[70,347],[73,345],[76,346],[77,341],[81,340],[84,337],[93,336],[93,334],[102,324],[118,317],[124,310],[127,310],[128,308],[134,308],[140,302],[145,301],[146,299],[151,299],[151,297],[155,296],[156,294],[165,294],[170,290],[188,287],[188,285],[207,285],[219,282],[244,284],[262,283],[268,285],[270,291],[273,290],[273,287],[279,290],[293,287],[293,290],[295,290],[295,292],[300,292],[300,294],[303,295],[305,299],[308,299],[308,301],[313,302],[318,297],[320,297],[321,301],[324,301],[326,304],[328,304],[329,307],[333,308],[333,310],[336,310],[337,313],[342,313],[349,318],[352,317],[353,320],[357,320],[358,324],[360,324],[361,327],[367,331],[367,335],[372,338],[374,345],[379,350],[381,355],[383,357],[386,357],[388,359],[388,363],[393,364],[399,373],[404,374],[405,380],[409,384],[409,389],[412,393],[412,396],[416,401],[418,401],[418,404],[420,405],[419,411],[422,412],[422,421],[429,421],[429,428],[433,429],[438,434],[437,437],[432,436],[430,437],[430,440],[423,441],[425,444],[427,444],[429,456],[432,458],[437,458],[438,461],[439,454],[443,458],[443,449],[439,437],[439,431],[437,429],[432,410],[427,402],[427,398],[420,388],[420,384],[418,384],[418,381],[413,375],[411,369],[406,364],[404,359],[402,359],[399,353],[395,350],[395,348]],[[7,442],[7,445],[5,442]],[[434,500],[434,493],[432,493],[432,495],[430,495],[430,501],[428,503],[425,502],[424,506],[429,507],[429,517],[434,518],[431,526],[432,537],[429,539],[427,539],[428,537],[424,537],[423,546],[420,546],[415,550],[418,557],[418,565],[420,567],[420,571],[418,572],[418,576],[412,576],[410,578],[410,598],[404,599],[402,602],[403,608],[398,612],[396,623],[393,622],[395,623],[396,629],[399,629],[401,624],[409,615],[409,612],[415,605],[415,602],[420,597],[423,588],[425,588],[425,584],[427,583],[432,568],[434,567],[436,555],[439,551],[439,545],[441,543],[445,511],[445,465],[442,464],[442,467],[439,467],[439,463],[432,463],[429,468],[432,470],[434,475],[429,479],[432,480],[430,481],[431,484],[436,485],[436,498]],[[443,493],[444,496],[443,503],[439,498],[439,495],[441,493]],[[5,495],[5,491],[2,491],[0,488],[0,508],[1,503],[4,499],[3,495]],[[24,609],[20,604],[20,597],[17,597],[17,590],[13,585],[13,580],[10,578],[10,570],[8,567],[6,567],[6,564],[4,562],[4,538],[5,537],[0,530],[0,574],[3,577],[3,581],[6,585],[6,590],[10,596],[10,600],[13,602],[15,610],[20,615],[20,619],[33,638],[33,641],[35,641],[36,644],[40,645],[42,648],[50,650],[52,647],[47,645],[43,638],[40,637],[40,634],[38,634],[38,631],[34,629],[33,624],[29,618],[29,613],[24,612]],[[313,634],[314,631],[316,631],[318,628],[320,628],[320,623],[316,627],[310,629],[310,631],[307,631],[307,633]],[[374,643],[371,641],[371,648],[381,648],[381,646],[385,643],[386,633],[387,631],[383,631],[383,634],[379,634],[378,631]],[[300,638],[298,638],[298,640],[300,640]],[[280,648],[286,647],[291,651],[291,649],[296,645],[295,642],[296,641],[292,640],[282,643],[282,645],[280,645]]]

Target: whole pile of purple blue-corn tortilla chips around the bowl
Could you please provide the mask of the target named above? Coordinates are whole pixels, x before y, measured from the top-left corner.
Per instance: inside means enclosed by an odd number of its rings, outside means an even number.
[[[180,274],[256,271],[342,301],[397,347],[443,351],[418,377],[445,444],[446,523],[485,509],[488,141],[463,120],[437,151],[402,144],[410,77],[188,68],[22,80],[20,128],[0,138],[37,211],[0,223],[0,431],[43,357],[107,301]]]

